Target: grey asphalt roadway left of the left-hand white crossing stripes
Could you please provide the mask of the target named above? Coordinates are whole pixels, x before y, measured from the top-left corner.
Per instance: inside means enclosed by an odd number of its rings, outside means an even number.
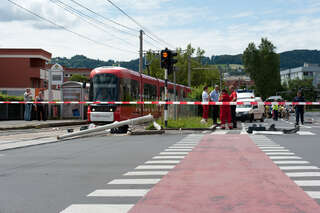
[[[97,188],[183,138],[110,136],[75,139],[0,153],[0,213],[60,212],[71,203],[131,203],[88,199]],[[133,200],[132,200],[133,199]]]

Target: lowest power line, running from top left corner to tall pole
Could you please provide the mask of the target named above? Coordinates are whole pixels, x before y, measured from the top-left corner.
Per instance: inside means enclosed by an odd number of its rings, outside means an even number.
[[[33,11],[31,11],[31,10],[29,10],[29,9],[21,6],[20,4],[14,2],[14,1],[11,1],[11,0],[8,0],[8,1],[9,1],[10,3],[14,4],[15,6],[19,7],[20,9],[23,9],[24,11],[26,11],[26,12],[28,12],[28,13],[30,13],[30,14],[32,14],[32,15],[34,15],[34,16],[36,16],[36,17],[38,17],[38,18],[40,18],[40,19],[42,19],[42,20],[44,20],[44,21],[46,21],[46,22],[48,22],[48,23],[50,23],[50,24],[52,24],[52,25],[54,25],[54,26],[56,26],[56,27],[58,27],[58,28],[60,28],[60,29],[63,29],[63,30],[66,30],[66,31],[68,31],[68,32],[70,32],[70,33],[72,33],[72,34],[75,34],[75,35],[77,35],[77,36],[79,36],[79,37],[81,37],[81,38],[83,38],[83,39],[86,39],[86,40],[89,40],[89,41],[91,41],[91,42],[93,42],[93,43],[96,43],[96,44],[99,44],[99,45],[103,45],[103,46],[106,46],[106,47],[110,47],[110,48],[113,48],[113,49],[116,49],[116,50],[119,50],[119,51],[131,52],[131,53],[134,53],[134,54],[137,53],[137,52],[135,52],[135,51],[124,50],[124,49],[121,49],[121,48],[117,48],[117,47],[114,47],[114,46],[105,44],[105,43],[100,42],[100,41],[93,40],[93,39],[91,39],[91,38],[89,38],[89,37],[87,37],[87,36],[85,36],[85,35],[82,35],[82,34],[80,34],[80,33],[77,33],[77,32],[74,32],[74,31],[70,30],[70,29],[66,28],[65,26],[56,24],[56,23],[54,23],[53,21],[51,21],[51,20],[49,20],[49,19],[47,19],[47,18],[44,18],[44,17],[40,16],[40,15],[37,14],[37,13],[34,13]]]

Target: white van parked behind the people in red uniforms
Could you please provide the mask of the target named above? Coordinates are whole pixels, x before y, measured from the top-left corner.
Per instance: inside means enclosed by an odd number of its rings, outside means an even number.
[[[260,120],[261,122],[264,121],[264,105],[262,104],[262,99],[260,97],[255,98],[241,98],[237,101],[242,102],[261,102],[258,105],[251,105],[251,104],[244,104],[244,105],[237,105],[236,108],[236,117],[237,120],[242,122],[249,120],[253,122],[254,120]]]

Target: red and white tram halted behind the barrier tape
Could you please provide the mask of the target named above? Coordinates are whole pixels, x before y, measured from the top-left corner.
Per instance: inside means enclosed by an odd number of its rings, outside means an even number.
[[[89,101],[160,101],[164,100],[165,82],[122,67],[99,67],[90,73]],[[190,87],[176,84],[177,100],[191,92]],[[169,97],[174,95],[174,84],[168,82]],[[163,106],[133,104],[91,104],[88,120],[111,123],[151,113],[161,116]]]

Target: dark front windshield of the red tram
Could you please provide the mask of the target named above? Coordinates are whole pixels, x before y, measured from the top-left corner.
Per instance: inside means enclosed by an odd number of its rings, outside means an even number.
[[[110,73],[97,74],[91,79],[92,101],[117,101],[118,77]]]

